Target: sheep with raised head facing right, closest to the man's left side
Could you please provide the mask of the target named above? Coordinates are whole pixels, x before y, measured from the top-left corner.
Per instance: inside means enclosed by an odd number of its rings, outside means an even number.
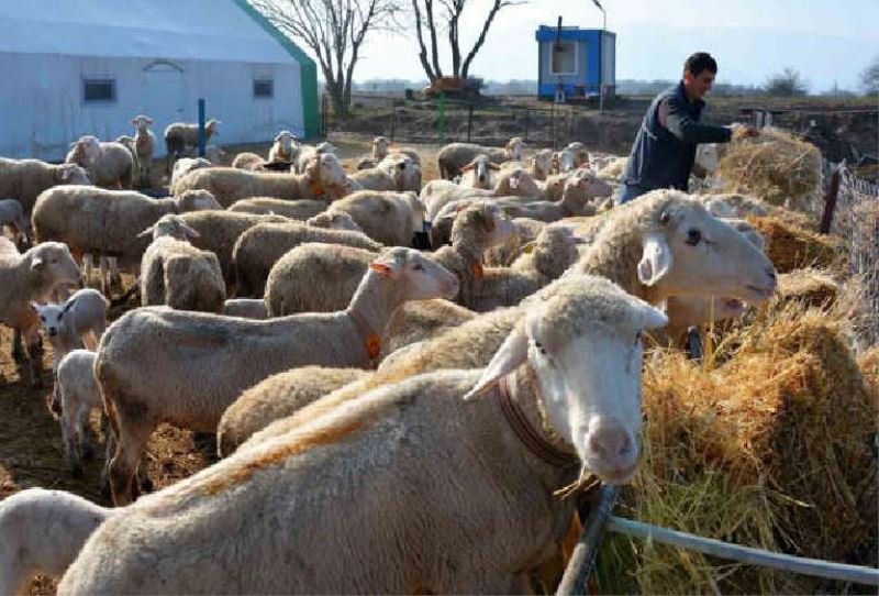
[[[592,199],[610,197],[612,188],[600,180],[589,169],[577,169],[565,183],[561,200],[530,201],[522,198],[503,197],[496,203],[510,217],[528,218],[539,221],[557,221],[571,216],[591,216],[596,212]]]

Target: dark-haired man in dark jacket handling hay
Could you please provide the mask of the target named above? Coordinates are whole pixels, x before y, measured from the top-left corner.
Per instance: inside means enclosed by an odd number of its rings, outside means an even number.
[[[733,131],[726,126],[700,124],[705,102],[717,74],[717,63],[697,52],[683,65],[683,79],[659,93],[650,103],[628,155],[616,205],[657,188],[687,190],[699,143],[728,143]],[[757,134],[747,126],[747,136]]]

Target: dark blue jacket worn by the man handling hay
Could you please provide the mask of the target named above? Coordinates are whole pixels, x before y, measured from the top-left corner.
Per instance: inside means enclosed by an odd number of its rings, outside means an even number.
[[[659,107],[668,107],[667,128],[660,123]],[[687,190],[698,143],[726,143],[732,131],[725,126],[700,124],[701,99],[690,102],[683,82],[666,89],[650,103],[638,136],[632,145],[623,183],[643,192],[656,188]]]

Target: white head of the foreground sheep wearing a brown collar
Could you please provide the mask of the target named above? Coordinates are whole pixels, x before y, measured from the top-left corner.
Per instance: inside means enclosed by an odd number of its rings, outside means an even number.
[[[558,279],[522,306],[522,320],[465,399],[527,364],[548,423],[581,461],[581,477],[628,481],[639,451],[641,333],[665,325],[666,316],[589,275]]]

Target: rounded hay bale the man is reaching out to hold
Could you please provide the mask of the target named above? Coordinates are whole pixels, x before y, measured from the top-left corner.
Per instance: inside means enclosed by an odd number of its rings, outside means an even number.
[[[821,152],[778,129],[760,135],[734,136],[720,159],[716,177],[733,192],[800,211],[821,209]]]

